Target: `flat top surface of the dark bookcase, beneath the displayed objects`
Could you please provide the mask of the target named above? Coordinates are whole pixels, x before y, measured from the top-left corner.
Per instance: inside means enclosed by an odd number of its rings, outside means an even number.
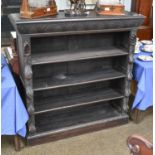
[[[56,16],[38,18],[38,19],[24,19],[20,18],[19,13],[11,14],[10,19],[13,20],[16,24],[27,24],[27,23],[44,23],[44,22],[60,22],[60,21],[87,21],[87,20],[113,20],[113,19],[134,19],[134,18],[144,18],[141,14],[136,14],[133,12],[125,12],[125,15],[122,16],[109,16],[109,15],[98,15],[95,11],[90,11],[87,16],[76,16],[76,17],[67,17],[64,12],[59,12]]]

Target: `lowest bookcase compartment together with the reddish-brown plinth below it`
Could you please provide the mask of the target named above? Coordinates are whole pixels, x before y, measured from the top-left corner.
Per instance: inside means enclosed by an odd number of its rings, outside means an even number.
[[[119,113],[110,104],[104,104],[53,115],[40,115],[36,122],[36,134],[28,136],[30,145],[125,124],[128,116]]]

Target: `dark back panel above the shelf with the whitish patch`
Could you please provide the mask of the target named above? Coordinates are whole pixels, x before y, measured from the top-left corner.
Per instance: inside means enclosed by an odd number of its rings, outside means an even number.
[[[107,71],[108,69],[118,70],[124,73],[127,56],[100,58],[81,61],[71,61],[63,63],[53,63],[45,65],[33,66],[33,79],[39,78],[57,78],[59,75],[64,75],[66,78],[70,75],[82,75],[86,73],[93,73],[97,71]],[[64,78],[65,78],[64,77]],[[54,80],[53,79],[53,80]],[[35,83],[34,80],[34,83]],[[59,80],[59,79],[58,79]],[[62,79],[63,80],[63,79]]]

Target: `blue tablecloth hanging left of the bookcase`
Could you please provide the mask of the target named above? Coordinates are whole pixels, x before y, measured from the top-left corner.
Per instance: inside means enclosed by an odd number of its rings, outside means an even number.
[[[28,113],[4,56],[1,54],[1,135],[26,136]]]

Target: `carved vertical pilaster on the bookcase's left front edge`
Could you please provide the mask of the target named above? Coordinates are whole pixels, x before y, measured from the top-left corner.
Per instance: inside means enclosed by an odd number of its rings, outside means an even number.
[[[32,86],[32,66],[31,66],[31,44],[30,38],[27,36],[22,37],[23,43],[23,56],[24,56],[24,82],[26,90],[27,110],[29,112],[28,128],[29,133],[32,134],[36,131],[35,118],[34,118],[34,104],[33,104],[33,86]]]

